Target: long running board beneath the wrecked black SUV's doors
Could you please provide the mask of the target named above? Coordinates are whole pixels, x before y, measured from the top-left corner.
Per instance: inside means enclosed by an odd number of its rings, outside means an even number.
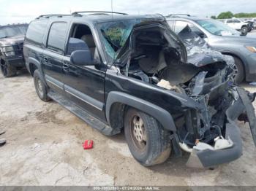
[[[64,106],[69,112],[72,112],[78,116],[81,120],[85,121],[92,128],[99,130],[105,136],[113,136],[118,132],[115,132],[113,128],[106,125],[104,122],[98,120],[96,117],[93,117],[89,112],[86,112],[84,109],[81,109],[73,101],[70,101],[68,98],[65,98],[64,95],[56,93],[53,90],[50,90],[48,97],[53,101],[56,101],[61,106]]]

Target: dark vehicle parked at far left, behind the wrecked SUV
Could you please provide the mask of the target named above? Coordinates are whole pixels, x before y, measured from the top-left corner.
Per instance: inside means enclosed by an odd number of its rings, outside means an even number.
[[[0,26],[0,69],[4,77],[25,67],[23,41],[28,24]]]

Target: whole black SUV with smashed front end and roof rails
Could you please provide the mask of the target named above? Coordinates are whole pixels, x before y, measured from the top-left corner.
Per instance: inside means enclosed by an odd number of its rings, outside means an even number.
[[[255,95],[233,83],[233,60],[207,52],[188,62],[162,15],[42,15],[29,25],[23,53],[42,101],[53,99],[107,136],[124,128],[142,165],[181,149],[193,167],[235,160],[238,117],[255,139]]]

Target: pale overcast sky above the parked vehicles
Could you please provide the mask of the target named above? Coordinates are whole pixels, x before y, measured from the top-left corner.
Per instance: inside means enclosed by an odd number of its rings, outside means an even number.
[[[29,23],[45,14],[111,11],[111,0],[0,0],[0,25]],[[220,12],[256,12],[255,0],[113,0],[113,11],[129,14],[184,13],[203,17]]]

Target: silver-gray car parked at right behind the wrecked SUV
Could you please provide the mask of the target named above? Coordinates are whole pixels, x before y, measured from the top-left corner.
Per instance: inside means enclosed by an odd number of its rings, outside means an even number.
[[[248,82],[256,80],[256,38],[241,36],[241,33],[225,25],[219,20],[190,15],[170,15],[167,22],[178,34],[189,26],[192,31],[205,39],[213,50],[231,55],[236,64],[236,82],[244,79]]]

